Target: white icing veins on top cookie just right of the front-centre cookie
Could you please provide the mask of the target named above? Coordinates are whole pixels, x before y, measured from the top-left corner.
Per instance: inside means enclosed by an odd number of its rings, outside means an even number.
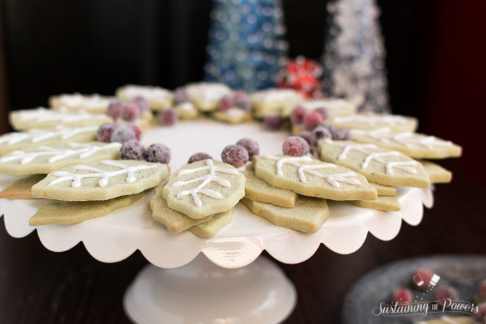
[[[299,175],[299,179],[303,183],[308,183],[307,178],[305,178],[305,173],[309,173],[312,176],[317,176],[319,178],[325,179],[330,185],[339,188],[339,182],[345,182],[350,185],[360,185],[361,182],[356,179],[352,178],[357,176],[354,172],[344,172],[344,173],[332,173],[332,174],[324,174],[315,171],[315,169],[329,169],[335,168],[336,165],[332,163],[320,162],[317,164],[301,164],[300,162],[312,162],[315,161],[312,157],[307,155],[299,156],[299,157],[276,157],[275,155],[263,155],[262,157],[267,158],[269,160],[276,161],[276,169],[277,169],[277,176],[284,176],[282,171],[283,164],[292,164],[297,167],[297,174]]]

